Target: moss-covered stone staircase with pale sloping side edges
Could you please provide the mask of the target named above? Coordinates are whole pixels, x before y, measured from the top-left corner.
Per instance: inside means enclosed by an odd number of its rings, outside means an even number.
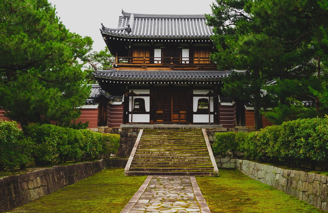
[[[141,134],[125,175],[218,175],[201,129],[147,129]]]

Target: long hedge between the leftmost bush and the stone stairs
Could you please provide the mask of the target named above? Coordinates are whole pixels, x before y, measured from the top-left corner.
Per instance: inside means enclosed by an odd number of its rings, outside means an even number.
[[[87,160],[116,153],[120,139],[117,134],[101,134],[89,129],[50,124],[30,125],[26,128],[26,134],[35,143],[32,155],[36,165]],[[108,142],[109,139],[113,141]]]

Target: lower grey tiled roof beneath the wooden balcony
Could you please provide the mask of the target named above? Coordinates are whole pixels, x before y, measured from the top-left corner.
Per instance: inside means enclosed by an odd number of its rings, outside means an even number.
[[[228,77],[231,71],[132,71],[132,70],[97,70],[95,77],[113,80],[183,80],[209,81]]]

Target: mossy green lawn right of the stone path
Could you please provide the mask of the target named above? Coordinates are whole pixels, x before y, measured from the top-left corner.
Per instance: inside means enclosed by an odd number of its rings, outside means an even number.
[[[239,170],[219,172],[219,177],[196,177],[212,213],[327,213]]]

